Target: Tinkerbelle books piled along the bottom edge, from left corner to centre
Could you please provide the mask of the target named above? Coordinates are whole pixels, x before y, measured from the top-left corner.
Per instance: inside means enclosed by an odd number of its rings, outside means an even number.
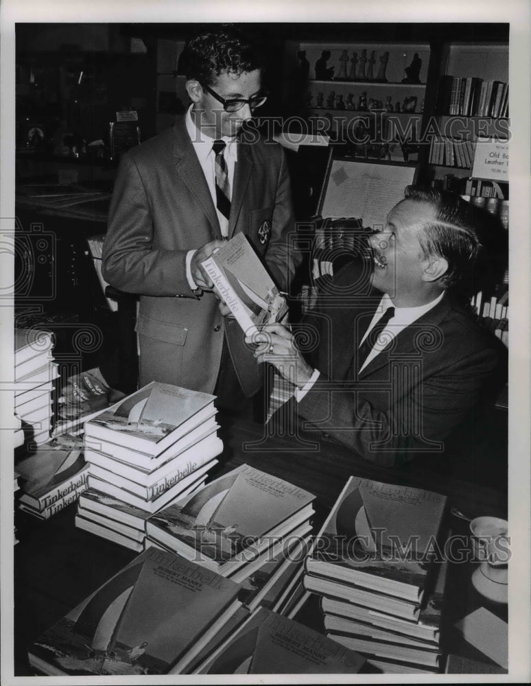
[[[266,608],[249,615],[240,592],[216,571],[149,547],[29,646],[29,663],[50,676],[364,670],[362,656],[314,630]]]

